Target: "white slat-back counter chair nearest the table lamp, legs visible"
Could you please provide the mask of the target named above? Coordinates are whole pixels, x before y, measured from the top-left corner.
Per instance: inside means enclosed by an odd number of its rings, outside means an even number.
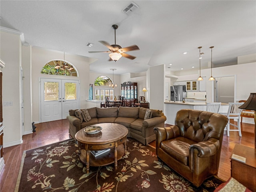
[[[242,137],[242,133],[241,133],[241,125],[240,125],[240,114],[242,112],[242,109],[239,109],[238,107],[240,107],[242,104],[242,102],[240,103],[228,103],[228,112],[227,113],[220,113],[222,115],[227,116],[228,118],[228,124],[226,125],[227,128],[227,135],[229,137],[229,132],[230,131],[238,131],[238,134],[240,137]],[[230,119],[237,119],[237,125],[230,123]],[[230,130],[230,125],[238,128],[238,129],[231,129]],[[225,128],[225,130],[226,130]]]

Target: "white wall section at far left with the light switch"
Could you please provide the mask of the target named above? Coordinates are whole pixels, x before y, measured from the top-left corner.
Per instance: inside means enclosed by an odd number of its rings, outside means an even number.
[[[12,102],[12,106],[3,106],[4,147],[7,147],[22,143],[20,106],[22,45],[20,35],[2,31],[0,42],[0,58],[6,64],[2,70],[2,101]]]

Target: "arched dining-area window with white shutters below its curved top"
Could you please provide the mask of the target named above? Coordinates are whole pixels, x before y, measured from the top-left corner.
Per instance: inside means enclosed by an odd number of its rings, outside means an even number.
[[[109,87],[112,80],[107,76],[98,76],[94,81],[95,100],[105,101],[105,96],[109,96],[110,100],[114,99],[114,89]]]

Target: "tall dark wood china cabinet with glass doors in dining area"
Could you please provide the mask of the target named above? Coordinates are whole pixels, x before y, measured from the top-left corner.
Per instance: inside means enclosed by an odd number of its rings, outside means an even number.
[[[138,86],[137,83],[123,82],[121,84],[121,96],[125,97],[124,105],[133,107],[138,102]]]

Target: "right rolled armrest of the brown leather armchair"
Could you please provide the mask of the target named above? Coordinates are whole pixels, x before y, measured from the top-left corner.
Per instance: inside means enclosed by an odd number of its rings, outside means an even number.
[[[189,148],[189,156],[193,156],[194,150],[198,150],[198,157],[210,157],[220,148],[220,141],[216,138],[210,138],[207,141],[192,144]]]

